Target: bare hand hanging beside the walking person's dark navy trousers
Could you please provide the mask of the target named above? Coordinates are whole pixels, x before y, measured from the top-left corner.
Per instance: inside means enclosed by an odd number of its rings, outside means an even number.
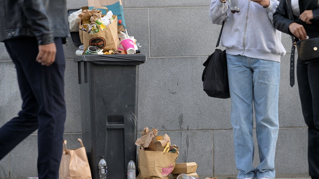
[[[41,65],[50,66],[56,59],[56,44],[49,43],[46,45],[39,45],[39,53],[36,61]]]

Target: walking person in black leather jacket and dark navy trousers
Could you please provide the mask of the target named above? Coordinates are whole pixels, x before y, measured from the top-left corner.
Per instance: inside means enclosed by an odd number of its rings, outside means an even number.
[[[38,130],[38,177],[58,179],[66,108],[66,0],[1,0],[0,41],[17,70],[22,109],[0,128],[0,160]]]

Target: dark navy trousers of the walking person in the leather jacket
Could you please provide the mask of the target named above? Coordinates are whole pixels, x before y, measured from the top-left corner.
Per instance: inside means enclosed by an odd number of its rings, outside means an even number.
[[[38,130],[39,179],[58,179],[66,117],[62,39],[55,38],[56,59],[48,67],[35,61],[38,44],[34,37],[4,43],[16,66],[23,102],[18,116],[0,128],[0,160]]]

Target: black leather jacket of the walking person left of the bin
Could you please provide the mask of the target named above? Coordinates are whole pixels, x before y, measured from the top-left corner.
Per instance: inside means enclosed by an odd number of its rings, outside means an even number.
[[[35,36],[39,45],[67,37],[66,0],[0,0],[0,41]]]

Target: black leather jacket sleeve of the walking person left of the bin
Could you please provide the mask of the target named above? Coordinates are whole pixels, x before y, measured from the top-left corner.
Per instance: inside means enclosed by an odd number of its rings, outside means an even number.
[[[47,12],[42,0],[18,0],[27,23],[31,26],[33,34],[39,45],[54,42],[54,36],[50,29]]]

